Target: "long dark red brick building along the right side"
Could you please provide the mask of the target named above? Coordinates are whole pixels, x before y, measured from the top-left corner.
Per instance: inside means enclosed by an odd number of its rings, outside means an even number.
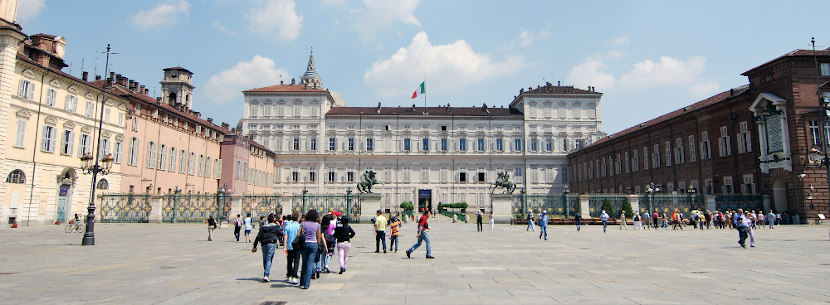
[[[817,162],[817,84],[830,81],[830,49],[815,55],[789,52],[743,73],[748,85],[571,153],[571,191],[644,193],[654,183],[663,193],[761,194],[766,209],[802,220],[830,215],[827,169]]]

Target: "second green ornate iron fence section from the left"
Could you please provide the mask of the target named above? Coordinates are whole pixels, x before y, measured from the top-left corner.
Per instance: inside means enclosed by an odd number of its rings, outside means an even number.
[[[216,195],[210,194],[169,194],[164,195],[162,222],[203,222],[208,216],[219,218],[219,204]]]

